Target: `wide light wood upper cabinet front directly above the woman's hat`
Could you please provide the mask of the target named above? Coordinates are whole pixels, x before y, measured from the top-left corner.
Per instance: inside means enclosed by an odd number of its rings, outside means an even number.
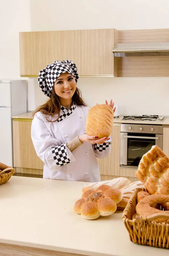
[[[48,64],[66,59],[80,73],[80,30],[20,32],[20,76],[37,76]]]

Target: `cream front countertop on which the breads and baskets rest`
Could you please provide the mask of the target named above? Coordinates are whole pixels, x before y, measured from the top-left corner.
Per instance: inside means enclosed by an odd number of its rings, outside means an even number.
[[[122,211],[94,221],[75,214],[84,184],[12,176],[0,185],[0,243],[88,256],[168,256],[167,249],[132,243]]]

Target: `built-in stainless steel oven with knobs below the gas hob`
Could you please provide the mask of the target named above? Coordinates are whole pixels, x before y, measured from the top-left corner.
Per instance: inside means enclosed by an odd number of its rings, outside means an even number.
[[[163,150],[163,125],[122,124],[120,166],[138,167],[143,154],[153,145]]]

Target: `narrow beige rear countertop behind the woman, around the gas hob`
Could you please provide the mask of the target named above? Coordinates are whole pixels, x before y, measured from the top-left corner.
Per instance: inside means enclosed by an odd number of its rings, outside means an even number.
[[[17,116],[12,116],[13,119],[32,119],[32,112],[28,112],[28,113],[23,113]],[[119,116],[117,118],[114,118],[114,123],[125,123],[125,124],[153,124],[153,125],[169,125],[169,117],[167,117],[163,122],[147,122],[147,121],[134,121],[134,120],[129,120],[129,121],[125,121],[123,122],[123,116]]]

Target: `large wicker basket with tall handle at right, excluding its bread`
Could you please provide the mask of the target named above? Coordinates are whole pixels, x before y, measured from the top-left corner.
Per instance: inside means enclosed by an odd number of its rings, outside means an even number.
[[[132,197],[126,208],[123,211],[123,223],[129,233],[130,241],[135,244],[144,244],[154,247],[169,248],[169,224],[153,223],[152,221],[158,218],[168,218],[169,214],[161,213],[160,215],[154,214],[151,216],[143,217],[136,216],[137,193],[139,191],[146,191],[145,189],[135,189]]]

